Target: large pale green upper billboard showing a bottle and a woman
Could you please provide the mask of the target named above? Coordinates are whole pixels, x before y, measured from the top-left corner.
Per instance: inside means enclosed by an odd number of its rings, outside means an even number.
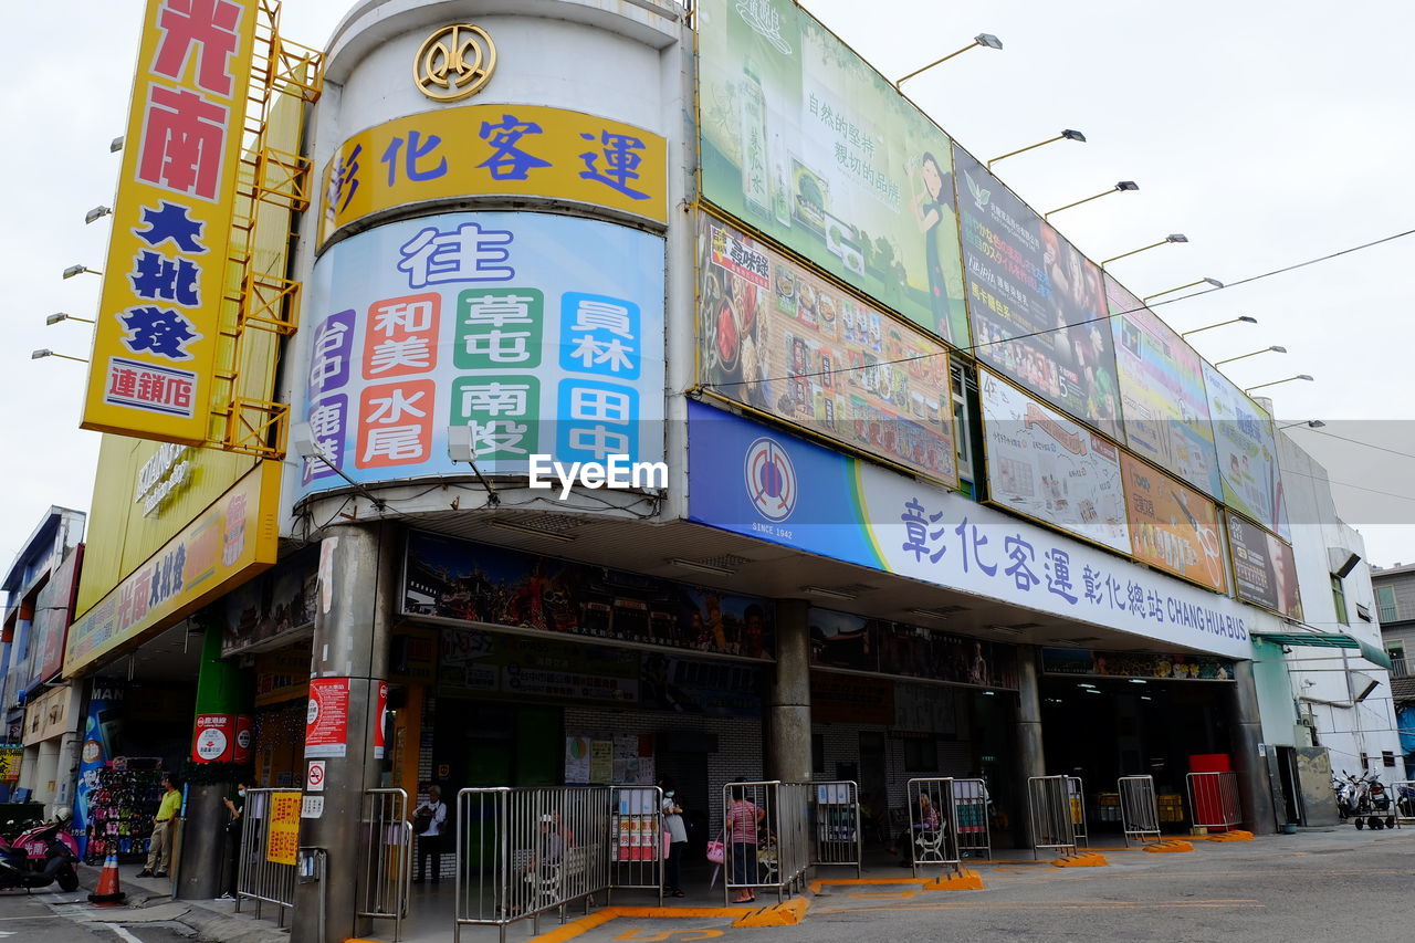
[[[703,197],[966,345],[948,136],[791,0],[698,21]]]

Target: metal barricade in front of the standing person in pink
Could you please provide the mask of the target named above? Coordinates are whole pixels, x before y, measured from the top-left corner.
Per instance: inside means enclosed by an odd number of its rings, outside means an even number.
[[[723,787],[723,898],[761,889],[780,902],[805,886],[812,791],[811,783],[777,780]]]

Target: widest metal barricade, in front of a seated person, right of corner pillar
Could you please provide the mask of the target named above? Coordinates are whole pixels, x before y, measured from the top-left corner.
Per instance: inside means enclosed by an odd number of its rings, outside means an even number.
[[[507,926],[584,902],[608,888],[610,801],[604,786],[463,789],[457,793],[453,939],[468,925]]]

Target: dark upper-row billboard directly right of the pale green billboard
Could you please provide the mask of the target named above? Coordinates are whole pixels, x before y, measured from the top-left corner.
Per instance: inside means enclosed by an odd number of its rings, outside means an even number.
[[[1101,269],[954,149],[978,360],[1124,442]]]

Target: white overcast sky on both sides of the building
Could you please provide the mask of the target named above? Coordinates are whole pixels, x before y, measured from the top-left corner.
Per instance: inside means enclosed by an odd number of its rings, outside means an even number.
[[[323,45],[352,0],[284,0],[284,33]],[[474,4],[468,4],[474,6]],[[906,85],[978,157],[1082,130],[998,166],[1037,210],[1135,180],[1056,217],[1094,259],[1184,232],[1115,263],[1136,295],[1213,276],[1237,282],[1415,228],[1415,4],[1135,3],[1133,0],[812,0],[805,4],[890,78],[993,33]],[[78,430],[82,364],[31,361],[50,347],[88,355],[86,324],[45,327],[52,312],[92,317],[102,268],[143,0],[3,4],[0,278],[10,343],[4,404],[0,559],[13,558],[50,504],[88,510],[98,436]],[[505,64],[511,68],[511,64]],[[1343,515],[1380,565],[1415,561],[1415,236],[1290,275],[1159,309],[1179,330],[1238,314],[1257,326],[1194,338],[1210,360],[1269,344],[1227,371],[1272,388],[1279,422],[1322,419],[1299,442],[1332,471]],[[1332,438],[1378,443],[1380,452]],[[1351,487],[1356,486],[1356,487]],[[1367,488],[1367,490],[1358,490]],[[1374,494],[1385,491],[1391,496]]]

